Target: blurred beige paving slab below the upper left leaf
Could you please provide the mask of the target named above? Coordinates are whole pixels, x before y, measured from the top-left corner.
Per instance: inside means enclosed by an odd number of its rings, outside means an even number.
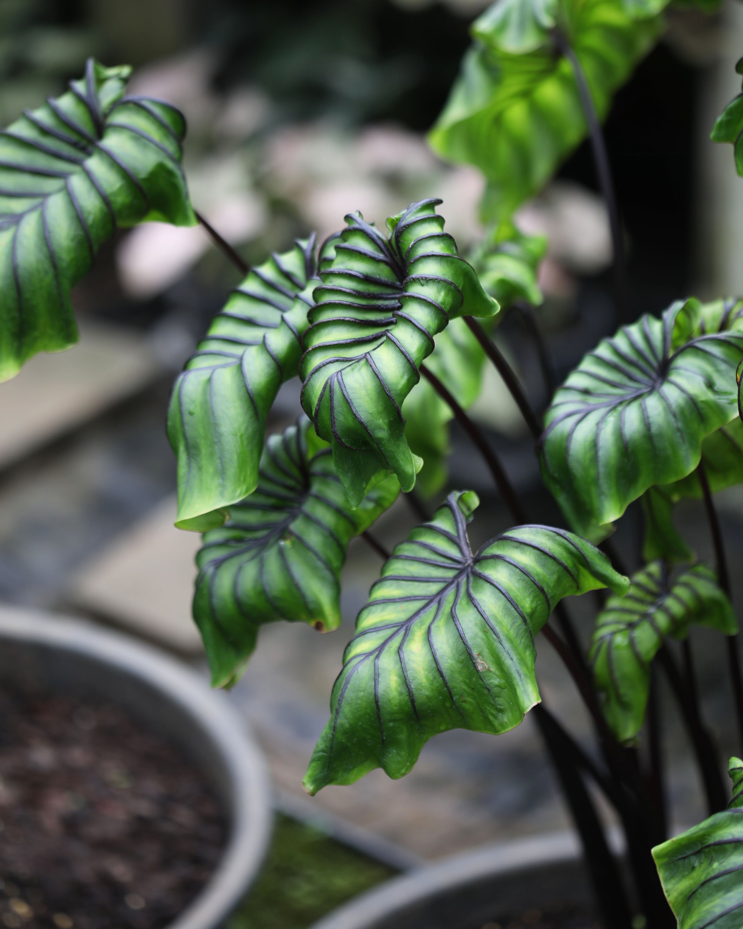
[[[0,385],[0,469],[137,393],[159,372],[142,335],[85,324],[78,345],[34,356]]]

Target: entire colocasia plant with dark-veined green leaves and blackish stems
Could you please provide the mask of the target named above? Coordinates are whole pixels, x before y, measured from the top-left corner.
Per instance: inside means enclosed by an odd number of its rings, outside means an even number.
[[[488,181],[489,231],[469,260],[436,198],[412,203],[386,228],[349,213],[326,242],[298,240],[250,270],[207,229],[245,276],[176,381],[168,434],[177,525],[204,533],[194,618],[215,686],[243,673],[264,623],[339,625],[353,538],[364,536],[385,558],[332,689],[308,792],[351,784],[376,767],[402,777],[437,733],[497,735],[533,713],[606,929],[630,929],[643,924],[639,917],[654,929],[676,921],[733,929],[743,924],[743,763],[730,762],[728,800],[688,635],[703,625],[723,636],[743,752],[737,624],[713,503],[715,491],[743,483],[743,301],[684,298],[624,325],[556,390],[545,364],[551,401],[543,415],[491,338],[506,313],[528,319],[541,303],[536,274],[546,242],[515,228],[515,208],[586,136],[611,221],[619,312],[632,318],[600,126],[612,94],[663,32],[664,6],[498,0],[476,20],[430,134],[439,154],[475,164]],[[126,97],[127,74],[90,62],[68,93],[0,137],[5,377],[34,352],[75,340],[70,289],[114,229],[198,221],[180,169],[183,118],[160,101]],[[742,131],[743,95],[712,134],[735,145],[741,175]],[[489,363],[533,434],[564,525],[541,525],[538,513],[525,512],[467,414]],[[266,438],[281,384],[297,377],[304,415]],[[420,506],[444,488],[452,418],[482,454],[514,525],[473,552],[467,526],[476,494],[451,491],[387,554],[368,530],[401,491],[415,489]],[[674,526],[673,507],[685,499],[705,508],[711,565]],[[645,566],[628,578],[606,540],[638,500]],[[611,595],[599,598],[584,644],[561,601],[602,588]],[[535,658],[544,639],[590,713],[595,752],[541,698]],[[658,674],[678,701],[710,812],[671,839]],[[631,888],[593,790],[621,823]]]

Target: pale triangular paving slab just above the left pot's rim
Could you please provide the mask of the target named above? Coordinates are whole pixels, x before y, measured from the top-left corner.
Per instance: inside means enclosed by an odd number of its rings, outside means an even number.
[[[75,607],[166,648],[200,654],[191,595],[201,536],[176,529],[175,518],[173,495],[85,564],[68,598]]]

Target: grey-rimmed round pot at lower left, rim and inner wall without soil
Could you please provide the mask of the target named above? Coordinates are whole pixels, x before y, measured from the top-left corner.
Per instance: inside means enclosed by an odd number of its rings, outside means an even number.
[[[107,700],[173,740],[230,824],[211,881],[167,929],[215,929],[253,882],[271,831],[263,755],[222,693],[162,652],[90,622],[0,608],[0,681]]]

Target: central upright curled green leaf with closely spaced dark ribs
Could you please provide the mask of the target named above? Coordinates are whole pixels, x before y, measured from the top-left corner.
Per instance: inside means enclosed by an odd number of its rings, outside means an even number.
[[[354,506],[386,474],[412,489],[419,463],[401,407],[418,369],[451,319],[499,308],[443,231],[438,203],[412,203],[387,220],[386,237],[360,214],[346,216],[332,258],[320,263],[300,364],[302,405],[332,443]]]

